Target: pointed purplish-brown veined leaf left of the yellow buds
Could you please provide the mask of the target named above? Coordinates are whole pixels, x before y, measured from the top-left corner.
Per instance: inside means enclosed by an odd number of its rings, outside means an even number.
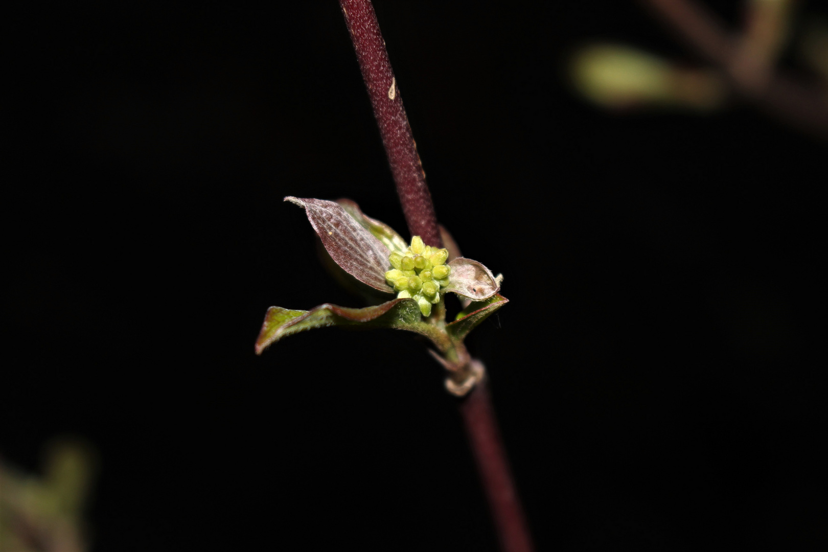
[[[391,252],[342,206],[325,199],[288,196],[285,200],[305,209],[325,250],[344,271],[376,290],[393,293],[385,281]]]

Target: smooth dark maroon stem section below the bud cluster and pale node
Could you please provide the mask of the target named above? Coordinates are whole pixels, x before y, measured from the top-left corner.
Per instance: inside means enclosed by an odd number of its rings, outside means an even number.
[[[466,434],[489,498],[501,549],[508,552],[529,552],[533,548],[532,537],[515,492],[506,452],[500,440],[498,420],[489,396],[489,384],[485,378],[460,404],[460,415],[463,416]]]

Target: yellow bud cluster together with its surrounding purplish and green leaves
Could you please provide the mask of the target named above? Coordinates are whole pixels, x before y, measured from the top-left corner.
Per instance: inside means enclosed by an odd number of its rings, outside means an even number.
[[[289,196],[285,200],[305,209],[337,266],[374,290],[397,297],[362,309],[328,303],[311,310],[271,307],[256,341],[256,353],[283,337],[322,326],[407,329],[429,338],[440,351],[440,362],[451,372],[448,390],[455,395],[469,391],[482,372],[473,369],[463,340],[508,303],[498,294],[503,276],[495,278],[481,263],[460,257],[455,247],[434,247],[419,236],[407,244],[388,224],[365,216],[349,199],[334,202]],[[447,235],[444,239],[450,241]],[[450,324],[445,324],[447,292],[460,295],[466,305]]]

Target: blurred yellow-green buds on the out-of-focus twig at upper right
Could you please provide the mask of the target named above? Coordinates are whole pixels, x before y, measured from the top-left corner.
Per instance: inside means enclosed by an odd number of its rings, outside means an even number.
[[[570,55],[570,84],[609,110],[689,108],[710,113],[724,108],[734,93],[766,87],[792,43],[802,68],[816,76],[809,75],[816,81],[809,84],[828,98],[828,25],[806,16],[801,36],[790,36],[796,28],[793,7],[789,0],[745,2],[744,27],[731,37],[734,48],[724,67],[691,67],[633,46],[593,41]]]

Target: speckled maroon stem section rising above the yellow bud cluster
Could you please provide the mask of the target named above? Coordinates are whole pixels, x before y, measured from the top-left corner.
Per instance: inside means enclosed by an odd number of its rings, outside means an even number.
[[[379,31],[377,15],[368,0],[339,0],[339,6],[354,42],[359,69],[362,70],[373,115],[383,137],[408,229],[412,236],[420,236],[426,244],[442,247],[434,204],[426,185],[426,172],[422,170],[420,156],[416,152],[416,143],[406,110],[402,107],[402,97],[388,60],[383,35]]]

